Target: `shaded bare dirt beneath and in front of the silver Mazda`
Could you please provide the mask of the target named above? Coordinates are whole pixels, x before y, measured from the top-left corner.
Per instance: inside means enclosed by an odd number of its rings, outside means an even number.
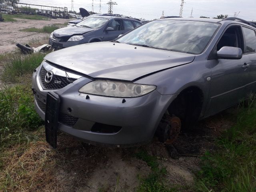
[[[190,186],[200,170],[200,156],[215,150],[214,139],[232,126],[236,107],[207,118],[183,130],[174,142],[174,151],[154,138],[149,144],[134,148],[111,149],[89,146],[65,134],[58,136],[58,166],[54,177],[61,192],[134,192],[138,176],[147,176],[150,167],[135,157],[141,150],[158,158],[166,167],[170,184]],[[173,152],[176,156],[171,158]],[[190,189],[185,192],[192,192]]]

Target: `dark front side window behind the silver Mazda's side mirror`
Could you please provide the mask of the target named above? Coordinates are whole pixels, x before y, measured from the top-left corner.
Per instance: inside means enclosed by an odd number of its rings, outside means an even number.
[[[242,49],[241,30],[238,26],[228,28],[217,44],[217,51],[224,46],[238,47]]]

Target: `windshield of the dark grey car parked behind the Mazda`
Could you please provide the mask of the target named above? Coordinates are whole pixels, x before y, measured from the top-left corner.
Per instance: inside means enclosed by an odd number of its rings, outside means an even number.
[[[81,22],[76,24],[76,26],[98,29],[98,28],[101,28],[107,21],[108,19],[106,18],[91,17],[91,18],[86,18],[85,20],[82,20]]]

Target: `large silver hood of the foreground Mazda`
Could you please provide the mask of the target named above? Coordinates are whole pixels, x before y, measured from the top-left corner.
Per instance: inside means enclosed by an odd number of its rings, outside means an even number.
[[[91,76],[132,81],[192,62],[195,55],[113,42],[72,46],[45,56],[49,62]]]

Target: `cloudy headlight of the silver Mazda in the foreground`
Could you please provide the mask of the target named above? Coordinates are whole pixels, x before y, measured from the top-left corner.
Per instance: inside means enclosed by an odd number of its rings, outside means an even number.
[[[96,80],[84,85],[79,92],[110,97],[138,97],[155,89],[156,86],[154,85]]]

